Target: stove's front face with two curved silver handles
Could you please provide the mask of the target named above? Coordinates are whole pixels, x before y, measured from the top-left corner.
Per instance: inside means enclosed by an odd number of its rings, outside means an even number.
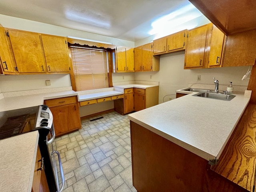
[[[49,156],[52,164],[52,170],[54,172],[57,192],[62,192],[64,188],[65,178],[64,178],[60,153],[57,150],[54,150],[54,146],[52,144],[54,138],[55,138],[55,132],[54,132],[54,126],[52,124],[52,128],[47,136],[46,144],[48,147],[48,152],[49,152]]]

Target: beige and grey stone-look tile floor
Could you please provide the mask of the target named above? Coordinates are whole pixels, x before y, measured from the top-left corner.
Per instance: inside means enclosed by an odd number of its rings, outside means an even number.
[[[103,118],[90,121],[98,117]],[[81,123],[82,129],[53,142],[62,160],[63,192],[137,192],[127,115],[110,112]]]

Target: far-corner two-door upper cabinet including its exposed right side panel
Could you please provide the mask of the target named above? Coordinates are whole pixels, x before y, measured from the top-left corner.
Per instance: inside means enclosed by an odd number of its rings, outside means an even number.
[[[152,43],[134,48],[135,71],[159,71],[160,56],[153,56],[152,48]]]

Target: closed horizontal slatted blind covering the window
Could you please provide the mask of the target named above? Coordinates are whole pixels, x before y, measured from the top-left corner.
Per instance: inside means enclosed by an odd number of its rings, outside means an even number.
[[[76,90],[109,87],[106,50],[70,46]]]

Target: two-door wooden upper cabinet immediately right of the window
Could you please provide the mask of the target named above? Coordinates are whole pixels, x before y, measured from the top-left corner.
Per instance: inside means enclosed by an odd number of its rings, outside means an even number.
[[[134,48],[116,47],[116,71],[134,72]]]

